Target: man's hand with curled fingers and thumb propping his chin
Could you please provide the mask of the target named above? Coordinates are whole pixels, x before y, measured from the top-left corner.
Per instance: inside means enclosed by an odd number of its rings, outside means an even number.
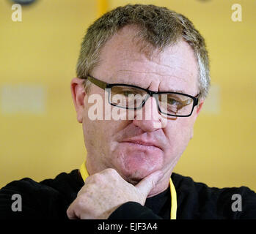
[[[125,181],[114,169],[89,176],[67,209],[69,219],[108,219],[120,205],[128,201],[145,204],[147,195],[163,177],[156,171],[136,186]]]

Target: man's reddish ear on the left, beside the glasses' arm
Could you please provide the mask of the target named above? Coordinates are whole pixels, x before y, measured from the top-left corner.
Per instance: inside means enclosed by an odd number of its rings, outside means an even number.
[[[76,108],[76,118],[79,123],[83,122],[84,97],[86,95],[83,82],[83,79],[73,78],[70,83],[73,104]]]

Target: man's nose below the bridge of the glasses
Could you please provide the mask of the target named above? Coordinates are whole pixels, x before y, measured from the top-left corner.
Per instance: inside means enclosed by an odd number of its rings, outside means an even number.
[[[136,110],[133,123],[136,127],[141,128],[145,132],[154,132],[164,127],[154,97],[149,97],[145,105],[139,110]]]

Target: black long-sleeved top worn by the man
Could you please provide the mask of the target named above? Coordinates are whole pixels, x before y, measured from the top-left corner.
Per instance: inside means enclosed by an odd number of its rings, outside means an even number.
[[[172,173],[172,182],[178,199],[177,219],[256,219],[256,194],[247,187],[210,188],[176,173]],[[12,181],[0,189],[0,219],[67,219],[67,208],[83,185],[78,170],[39,183],[31,178]],[[15,194],[21,195],[21,211],[12,211]],[[170,208],[167,189],[148,198],[144,206],[121,205],[109,219],[169,219]]]

